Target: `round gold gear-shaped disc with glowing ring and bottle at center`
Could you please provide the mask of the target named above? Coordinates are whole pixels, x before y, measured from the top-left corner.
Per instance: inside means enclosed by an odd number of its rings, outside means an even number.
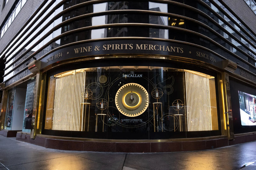
[[[132,100],[131,100],[132,94]],[[136,83],[128,83],[120,87],[115,97],[116,108],[129,117],[139,116],[148,108],[148,92]]]

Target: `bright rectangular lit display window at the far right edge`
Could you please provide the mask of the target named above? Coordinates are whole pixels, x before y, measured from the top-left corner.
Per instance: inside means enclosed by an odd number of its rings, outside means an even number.
[[[241,125],[256,125],[256,96],[238,91]]]

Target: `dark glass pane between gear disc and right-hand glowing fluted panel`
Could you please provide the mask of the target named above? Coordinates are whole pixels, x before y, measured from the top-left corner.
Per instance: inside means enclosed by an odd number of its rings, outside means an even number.
[[[186,131],[183,70],[151,66],[149,79],[151,84],[149,114],[151,124],[154,125],[150,128],[150,137],[156,138],[155,132]],[[186,137],[185,133],[178,135]]]

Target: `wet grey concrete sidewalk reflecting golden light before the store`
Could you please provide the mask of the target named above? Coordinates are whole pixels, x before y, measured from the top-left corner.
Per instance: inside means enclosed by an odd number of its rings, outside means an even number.
[[[113,153],[61,151],[0,136],[0,170],[256,170],[256,141],[204,151]]]

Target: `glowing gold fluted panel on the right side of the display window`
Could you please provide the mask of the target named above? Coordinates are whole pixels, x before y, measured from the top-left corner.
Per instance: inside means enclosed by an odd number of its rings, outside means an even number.
[[[209,79],[185,72],[188,131],[212,130]]]

